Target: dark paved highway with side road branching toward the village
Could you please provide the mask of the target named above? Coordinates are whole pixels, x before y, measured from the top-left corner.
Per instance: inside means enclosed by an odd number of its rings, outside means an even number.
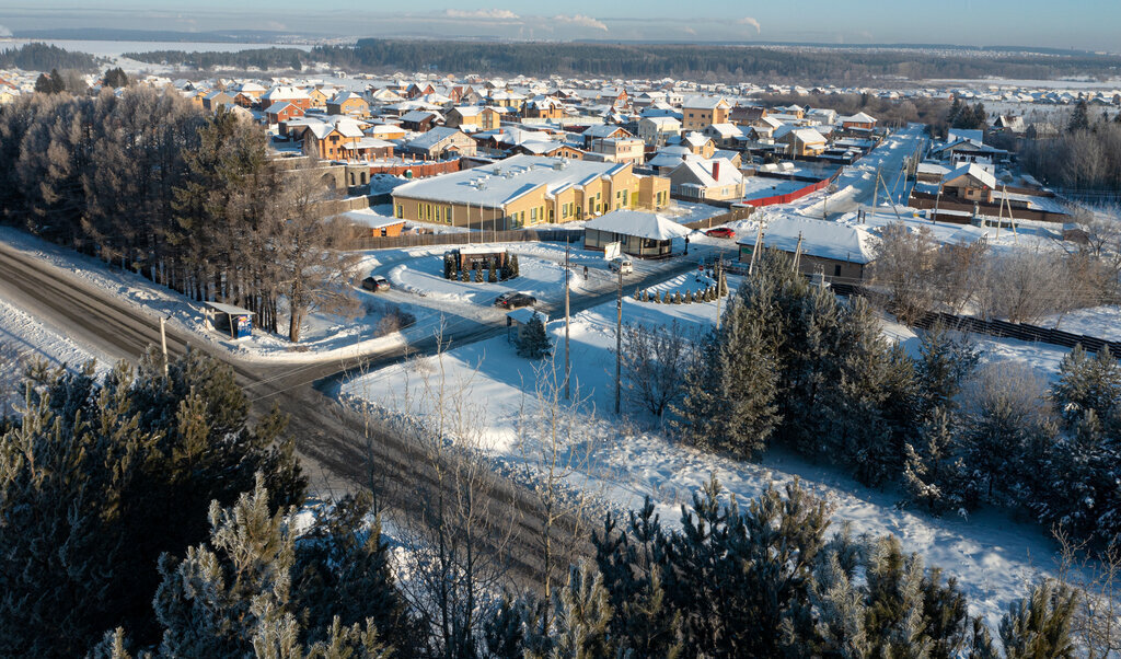
[[[627,286],[650,286],[694,267],[693,261],[682,260],[657,272],[636,276]],[[0,244],[0,295],[114,359],[136,362],[149,345],[159,344],[156,318],[65,270],[4,244]],[[614,295],[609,289],[575,297],[573,313],[609,301]],[[503,323],[500,321],[462,323],[443,338],[445,343],[462,345],[501,332]],[[274,405],[289,415],[289,430],[296,438],[313,488],[319,493],[373,488],[389,508],[416,519],[426,492],[450,486],[441,479],[441,470],[446,465],[434,464],[430,456],[391,428],[363,418],[323,393],[333,390],[332,382],[337,383],[348,373],[393,363],[407,353],[435,352],[439,349],[435,335],[407,347],[386,349],[358,358],[271,365],[216,354],[215,349],[174,327],[168,327],[167,334],[173,355],[183,354],[191,346],[229,363],[253,401],[254,415],[267,412]],[[524,583],[539,581],[543,573],[535,550],[541,537],[539,501],[522,486],[498,476],[492,476],[481,490],[481,496],[488,511],[485,518],[497,523],[493,529],[495,546],[499,542],[509,546],[515,575]],[[510,525],[513,526],[512,537],[504,540]],[[554,532],[564,535],[566,523],[562,522]]]

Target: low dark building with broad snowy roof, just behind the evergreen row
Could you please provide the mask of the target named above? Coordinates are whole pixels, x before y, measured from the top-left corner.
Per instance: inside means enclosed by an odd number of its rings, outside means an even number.
[[[736,240],[740,262],[751,262],[756,238],[757,233],[744,232]],[[871,234],[863,226],[809,217],[787,215],[770,220],[763,228],[762,243],[765,248],[795,257],[803,275],[822,273],[826,281],[862,281],[876,258]]]

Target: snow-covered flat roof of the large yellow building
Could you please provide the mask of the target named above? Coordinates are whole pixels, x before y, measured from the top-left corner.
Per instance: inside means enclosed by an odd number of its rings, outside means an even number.
[[[626,163],[568,160],[541,156],[511,156],[452,174],[406,183],[393,195],[445,203],[499,207],[530,191],[546,186],[548,194],[586,185],[601,176],[613,176],[630,167]]]

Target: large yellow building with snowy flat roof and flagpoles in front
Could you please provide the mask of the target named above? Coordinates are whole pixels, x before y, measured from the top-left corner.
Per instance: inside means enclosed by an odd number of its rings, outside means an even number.
[[[512,156],[393,189],[399,220],[481,229],[564,223],[668,204],[669,180],[637,175],[629,163],[540,156]]]

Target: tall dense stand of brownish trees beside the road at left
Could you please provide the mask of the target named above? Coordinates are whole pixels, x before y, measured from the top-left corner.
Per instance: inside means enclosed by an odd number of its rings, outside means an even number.
[[[174,93],[34,94],[0,110],[3,221],[196,300],[256,313],[288,337],[346,310],[353,259],[331,249],[323,186],[282,171],[259,127]]]

